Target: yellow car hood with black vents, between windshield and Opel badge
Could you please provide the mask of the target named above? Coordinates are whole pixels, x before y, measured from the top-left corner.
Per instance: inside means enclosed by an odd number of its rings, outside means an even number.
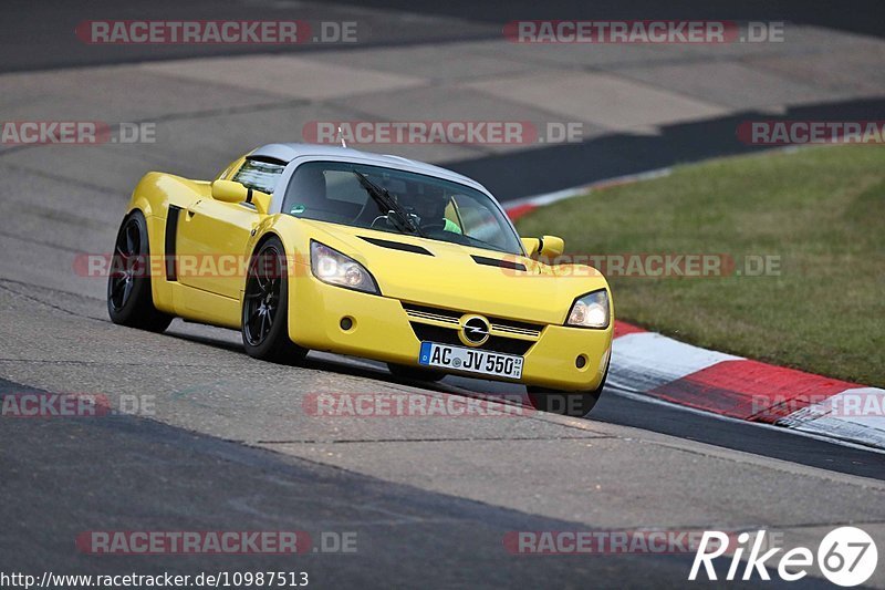
[[[301,219],[309,234],[365,266],[384,297],[539,323],[562,324],[579,296],[607,287],[583,265]]]

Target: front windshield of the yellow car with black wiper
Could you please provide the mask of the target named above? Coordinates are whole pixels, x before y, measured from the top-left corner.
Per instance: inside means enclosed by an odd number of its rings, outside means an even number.
[[[347,162],[309,162],[295,169],[283,213],[522,253],[497,204],[468,186],[410,172]]]

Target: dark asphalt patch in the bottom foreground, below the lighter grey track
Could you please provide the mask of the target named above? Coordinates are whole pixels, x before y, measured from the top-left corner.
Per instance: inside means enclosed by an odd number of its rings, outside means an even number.
[[[7,391],[27,391],[13,383]],[[118,416],[3,425],[3,553],[0,570],[115,575],[306,571],[320,588],[626,587],[679,580],[687,556],[615,559],[513,558],[510,530],[570,530],[549,519],[460,499],[314,462]],[[59,445],[59,441],[69,441]],[[4,447],[7,445],[4,444]],[[152,484],[153,483],[153,484]],[[60,489],[63,488],[63,489]],[[71,551],[85,530],[306,530],[356,535],[353,555],[88,557]],[[10,532],[15,531],[13,537]],[[321,547],[320,540],[313,540]]]

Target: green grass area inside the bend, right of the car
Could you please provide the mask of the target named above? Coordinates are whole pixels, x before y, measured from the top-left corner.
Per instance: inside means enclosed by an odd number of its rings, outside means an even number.
[[[885,385],[885,148],[677,167],[538,209],[523,236],[581,253],[781,257],[780,276],[611,277],[618,319],[705,348]]]

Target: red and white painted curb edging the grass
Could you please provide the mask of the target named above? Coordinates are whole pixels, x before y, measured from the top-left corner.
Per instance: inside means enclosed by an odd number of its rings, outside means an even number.
[[[668,168],[508,203],[511,218]],[[616,322],[608,384],[730,418],[885,449],[885,390],[693,346]]]

